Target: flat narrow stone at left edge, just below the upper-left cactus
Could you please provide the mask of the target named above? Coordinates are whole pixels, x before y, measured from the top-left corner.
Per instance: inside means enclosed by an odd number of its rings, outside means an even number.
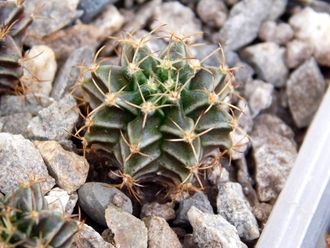
[[[38,114],[40,110],[54,103],[52,98],[40,94],[0,97],[0,116],[17,113]]]

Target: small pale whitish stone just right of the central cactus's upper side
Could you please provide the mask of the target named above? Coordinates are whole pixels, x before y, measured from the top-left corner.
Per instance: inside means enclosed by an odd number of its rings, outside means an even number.
[[[261,80],[253,80],[245,87],[245,96],[249,99],[252,117],[272,104],[274,86]]]

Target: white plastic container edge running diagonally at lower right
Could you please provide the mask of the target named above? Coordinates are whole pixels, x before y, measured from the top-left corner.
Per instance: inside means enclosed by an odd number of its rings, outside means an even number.
[[[330,224],[330,87],[257,248],[325,248]]]

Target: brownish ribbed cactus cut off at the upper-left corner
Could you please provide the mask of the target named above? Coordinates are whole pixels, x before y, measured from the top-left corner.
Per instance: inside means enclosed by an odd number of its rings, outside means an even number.
[[[23,75],[21,40],[31,21],[22,1],[0,1],[0,93],[15,90]]]

